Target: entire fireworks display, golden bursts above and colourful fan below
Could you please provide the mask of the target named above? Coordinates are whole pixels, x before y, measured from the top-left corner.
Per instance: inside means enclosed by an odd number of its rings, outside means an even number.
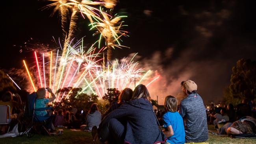
[[[150,76],[150,70],[139,68],[139,63],[134,62],[133,58],[123,58],[121,60],[115,59],[111,61],[111,51],[115,48],[122,48],[120,43],[121,36],[127,36],[127,31],[121,30],[121,19],[126,16],[111,17],[108,13],[104,12],[102,8],[95,8],[94,6],[100,5],[107,8],[113,8],[116,0],[102,0],[100,2],[93,2],[89,0],[48,0],[54,2],[47,5],[45,8],[55,7],[54,12],[59,11],[61,16],[61,24],[63,33],[65,35],[65,43],[59,54],[59,50],[52,50],[50,52],[34,52],[36,65],[28,68],[25,61],[23,61],[30,82],[33,89],[43,87],[43,80],[45,87],[52,87],[52,91],[58,94],[56,102],[63,98],[68,98],[69,94],[74,88],[82,88],[82,92],[92,92],[102,97],[107,93],[107,89],[116,88],[122,90],[126,87],[134,88],[136,81],[139,83],[144,82],[144,79]],[[69,15],[71,11],[71,15]],[[94,35],[100,34],[100,39],[96,41],[90,48],[83,46],[83,39],[74,43],[74,30],[78,20],[78,12],[86,15],[90,20],[91,29],[96,29]],[[70,19],[68,28],[67,20]],[[68,30],[67,30],[68,29]],[[100,48],[101,37],[105,39],[106,46]],[[95,44],[98,42],[98,48]],[[104,57],[102,58],[102,51],[108,49],[108,57],[105,65]],[[57,54],[56,54],[57,53]],[[134,55],[135,56],[135,55]],[[42,57],[43,62],[40,62]],[[55,66],[52,66],[55,62]],[[43,68],[43,70],[42,70]],[[33,70],[32,75],[29,72]],[[54,70],[54,74],[52,74]],[[33,76],[37,71],[38,76]],[[57,72],[56,72],[57,71]],[[43,76],[41,76],[43,72]],[[44,78],[44,79],[43,79]],[[156,81],[154,78],[150,83]],[[146,79],[148,80],[148,79]],[[47,83],[46,83],[47,81]],[[35,83],[35,85],[34,85]],[[133,85],[134,83],[134,85]],[[137,85],[139,84],[137,83]],[[72,87],[69,92],[61,92],[65,87]]]

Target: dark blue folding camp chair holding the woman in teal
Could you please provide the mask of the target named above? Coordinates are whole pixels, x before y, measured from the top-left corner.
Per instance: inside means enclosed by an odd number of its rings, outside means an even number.
[[[28,94],[26,106],[24,109],[24,123],[26,125],[25,129],[27,132],[27,137],[33,137],[33,135],[28,133],[31,129],[39,133],[35,127],[35,123],[39,123],[43,130],[45,130],[46,133],[50,135],[50,132],[45,128],[44,124],[46,123],[46,120],[51,116],[39,116],[35,113],[35,111],[45,111],[47,109],[52,109],[52,107],[35,109],[36,97],[37,95],[35,92]]]

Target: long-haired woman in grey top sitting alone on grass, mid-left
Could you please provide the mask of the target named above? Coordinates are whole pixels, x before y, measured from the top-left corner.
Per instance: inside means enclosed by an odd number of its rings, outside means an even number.
[[[85,125],[80,126],[82,130],[90,130],[93,126],[98,127],[101,122],[101,114],[98,111],[97,103],[91,105],[91,109],[86,116]]]

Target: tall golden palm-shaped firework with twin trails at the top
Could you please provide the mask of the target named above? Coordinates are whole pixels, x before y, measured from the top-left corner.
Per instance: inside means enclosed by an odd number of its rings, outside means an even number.
[[[99,18],[100,15],[98,14],[100,12],[99,9],[93,7],[96,5],[103,5],[109,8],[113,8],[115,6],[116,1],[115,0],[107,0],[106,2],[94,2],[90,0],[48,0],[52,1],[54,3],[49,4],[43,9],[49,8],[49,7],[55,7],[53,14],[59,11],[59,14],[61,16],[61,27],[63,30],[63,35],[65,36],[64,46],[62,50],[62,59],[66,55],[68,44],[71,43],[70,39],[73,38],[75,29],[76,29],[76,22],[78,20],[78,11],[80,11],[83,15],[86,15],[87,18],[91,23],[93,23],[93,18]],[[69,15],[69,11],[72,11],[71,16]],[[98,12],[98,13],[97,13]],[[104,15],[108,15],[107,13],[102,13]],[[84,17],[83,17],[84,18]],[[69,26],[67,27],[67,19],[70,19]],[[66,28],[67,27],[67,28]],[[68,29],[68,31],[66,30]],[[110,54],[109,54],[110,55]],[[61,74],[61,68],[57,71],[57,77],[59,78]]]

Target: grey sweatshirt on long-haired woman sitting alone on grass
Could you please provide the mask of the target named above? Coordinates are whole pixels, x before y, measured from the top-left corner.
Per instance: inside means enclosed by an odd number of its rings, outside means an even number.
[[[86,125],[89,127],[89,130],[93,128],[93,126],[99,126],[101,122],[101,114],[99,111],[95,111],[94,113],[89,113],[86,117]]]

